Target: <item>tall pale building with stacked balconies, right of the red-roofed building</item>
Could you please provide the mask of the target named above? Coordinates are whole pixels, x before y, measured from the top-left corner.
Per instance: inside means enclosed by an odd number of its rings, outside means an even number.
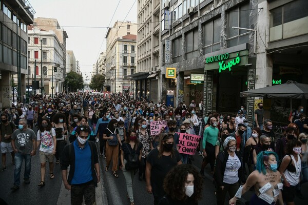
[[[160,0],[138,1],[137,68],[131,75],[136,97],[158,101],[160,73]]]

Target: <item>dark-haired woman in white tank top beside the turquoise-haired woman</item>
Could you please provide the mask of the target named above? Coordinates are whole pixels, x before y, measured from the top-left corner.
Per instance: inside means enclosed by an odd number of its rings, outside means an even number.
[[[292,139],[287,142],[285,156],[281,161],[279,172],[283,179],[282,197],[287,205],[295,204],[296,187],[301,173],[301,142]]]

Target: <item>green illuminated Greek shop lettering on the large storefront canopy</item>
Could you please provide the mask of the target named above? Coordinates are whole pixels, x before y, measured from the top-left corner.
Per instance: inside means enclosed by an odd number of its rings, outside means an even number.
[[[214,62],[218,62],[219,64],[219,72],[224,71],[226,69],[229,69],[229,71],[231,71],[231,68],[233,66],[236,66],[238,64],[240,64],[241,61],[241,57],[239,56],[239,54],[237,53],[237,57],[229,60],[229,61],[225,61],[229,58],[229,53],[224,53],[224,54],[220,54],[220,55],[215,55],[215,56],[210,56],[206,58],[206,64],[209,63],[214,63]]]

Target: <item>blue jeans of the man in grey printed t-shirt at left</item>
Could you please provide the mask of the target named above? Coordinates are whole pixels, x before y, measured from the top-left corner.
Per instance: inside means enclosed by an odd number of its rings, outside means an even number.
[[[25,159],[25,173],[24,179],[30,178],[31,172],[31,155],[30,154],[22,154],[22,153],[15,153],[15,170],[14,170],[14,185],[20,186],[21,185],[21,170],[22,170],[22,163]]]

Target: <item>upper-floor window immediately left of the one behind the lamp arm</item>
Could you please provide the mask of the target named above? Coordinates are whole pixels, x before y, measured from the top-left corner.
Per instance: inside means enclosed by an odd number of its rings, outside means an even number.
[[[221,19],[203,25],[203,54],[220,50]]]

